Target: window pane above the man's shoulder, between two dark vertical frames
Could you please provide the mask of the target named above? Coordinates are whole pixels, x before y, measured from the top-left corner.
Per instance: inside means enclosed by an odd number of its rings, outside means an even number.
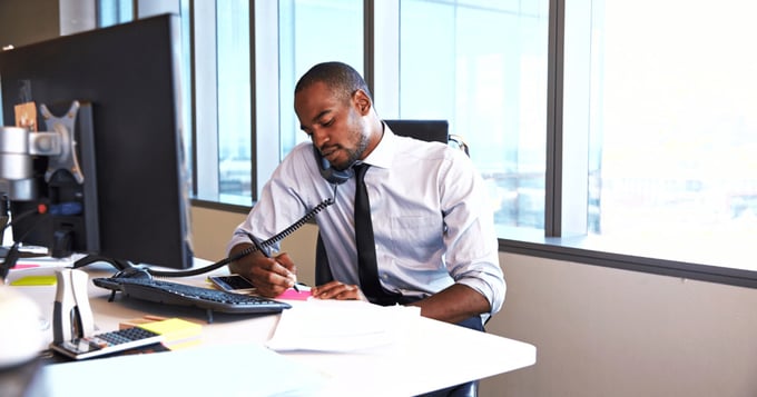
[[[450,121],[500,229],[543,230],[547,50],[547,0],[400,2],[399,117]]]

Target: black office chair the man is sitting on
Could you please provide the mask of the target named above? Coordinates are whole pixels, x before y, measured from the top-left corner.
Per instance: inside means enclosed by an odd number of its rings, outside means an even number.
[[[403,137],[411,137],[425,141],[438,141],[442,143],[453,143],[458,149],[470,156],[468,145],[456,135],[450,135],[450,123],[446,120],[384,120],[394,133]],[[328,257],[323,246],[321,234],[315,247],[315,284],[323,285],[334,277],[328,268]],[[483,329],[483,326],[482,328]],[[443,390],[432,391],[422,395],[423,397],[475,397],[478,396],[479,381],[453,386]]]

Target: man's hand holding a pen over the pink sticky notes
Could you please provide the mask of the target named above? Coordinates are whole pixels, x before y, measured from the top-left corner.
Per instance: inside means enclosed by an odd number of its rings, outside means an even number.
[[[252,244],[240,244],[232,249],[230,256],[252,247]],[[242,257],[228,265],[232,272],[247,278],[255,285],[257,294],[264,297],[276,297],[287,288],[294,286],[297,280],[297,267],[285,252],[273,258],[264,256],[259,251]]]

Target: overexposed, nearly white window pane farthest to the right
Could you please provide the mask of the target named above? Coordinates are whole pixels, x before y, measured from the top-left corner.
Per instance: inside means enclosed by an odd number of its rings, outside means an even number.
[[[754,11],[744,0],[568,4],[563,138],[588,139],[573,167],[588,191],[577,234],[658,256],[655,241],[680,241],[701,260],[757,232]]]

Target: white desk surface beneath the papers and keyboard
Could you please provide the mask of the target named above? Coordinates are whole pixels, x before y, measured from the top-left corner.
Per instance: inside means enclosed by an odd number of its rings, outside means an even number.
[[[95,264],[85,268],[94,277],[107,277],[111,275],[112,268],[107,265]],[[35,269],[12,271],[9,281],[16,278],[40,274],[52,274],[52,269]],[[216,272],[226,272],[219,270]],[[173,279],[181,282],[204,285],[207,275],[193,278]],[[55,300],[55,287],[13,287],[32,297],[42,309],[45,316],[51,320],[52,302]],[[159,355],[186,354],[187,350],[207,351],[250,351],[238,357],[228,355],[217,363],[201,363],[203,359],[188,356],[187,360],[199,360],[187,367],[164,368],[163,374],[145,374],[145,368],[135,368],[136,363],[146,363],[147,356],[142,355],[128,358],[128,363],[119,363],[117,357],[108,359],[91,360],[99,361],[97,366],[88,363],[62,364],[63,366],[80,366],[72,373],[80,373],[78,379],[71,379],[71,385],[56,385],[50,391],[55,395],[66,395],[76,390],[79,395],[135,395],[135,388],[141,390],[154,390],[160,385],[167,384],[181,385],[185,389],[171,388],[171,390],[184,391],[180,395],[203,395],[208,391],[208,385],[213,385],[209,379],[217,376],[229,375],[223,384],[225,389],[213,389],[223,391],[237,390],[236,395],[258,395],[255,390],[263,383],[292,383],[291,374],[276,373],[273,378],[271,374],[265,379],[258,379],[254,371],[245,376],[244,368],[254,366],[256,363],[255,347],[262,347],[274,334],[279,315],[248,316],[248,315],[227,315],[214,314],[214,322],[206,324],[206,314],[196,308],[185,308],[177,306],[165,306],[146,302],[132,298],[126,298],[117,294],[114,302],[108,301],[110,291],[91,285],[89,287],[90,305],[95,316],[95,325],[99,331],[108,331],[118,328],[118,324],[145,315],[157,315],[165,317],[180,317],[191,321],[203,322],[203,343],[197,348],[166,353]],[[308,305],[308,301],[291,301],[294,305]],[[348,302],[345,302],[348,304]],[[281,357],[281,363],[271,363],[271,366],[281,365],[286,367],[287,363],[292,367],[301,365],[303,371],[295,374],[311,374],[319,377],[322,383],[317,384],[315,395],[361,395],[361,396],[412,396],[421,393],[432,391],[444,387],[462,384],[473,379],[481,379],[489,376],[515,370],[535,363],[535,347],[521,341],[502,338],[485,333],[478,333],[466,328],[449,325],[445,322],[427,319],[424,317],[409,317],[407,324],[403,325],[407,330],[402,335],[402,339],[389,348],[373,349],[361,353],[313,353],[293,351],[284,354],[273,354]],[[52,331],[49,333],[50,340]],[[252,346],[250,346],[252,345]],[[252,349],[252,350],[250,350]],[[262,348],[268,353],[269,350]],[[237,357],[230,357],[237,356]],[[178,357],[178,356],[176,356]],[[217,357],[216,357],[217,358]],[[264,355],[263,360],[272,357]],[[139,361],[142,360],[142,361]],[[108,363],[110,361],[110,363]],[[277,361],[277,359],[273,359]],[[295,365],[296,363],[296,365]],[[256,363],[259,365],[259,363]],[[58,366],[58,365],[56,365]],[[85,366],[88,366],[85,368]],[[271,366],[267,366],[271,368]],[[91,374],[90,367],[100,368],[100,375]],[[127,367],[127,368],[121,368]],[[197,373],[198,368],[204,371]],[[68,368],[68,367],[61,367]],[[243,374],[235,371],[243,370]],[[309,371],[309,373],[308,373]],[[278,376],[276,376],[278,375]],[[115,385],[125,383],[125,387],[108,389],[97,389],[92,385],[94,379],[99,376],[108,378]],[[199,378],[198,378],[199,377]],[[89,381],[88,381],[89,379]],[[216,379],[217,381],[218,379]],[[317,383],[317,381],[316,381]],[[196,386],[193,386],[196,385]],[[225,390],[225,391],[224,391]],[[311,390],[312,391],[312,390]],[[311,391],[307,394],[311,395]]]

